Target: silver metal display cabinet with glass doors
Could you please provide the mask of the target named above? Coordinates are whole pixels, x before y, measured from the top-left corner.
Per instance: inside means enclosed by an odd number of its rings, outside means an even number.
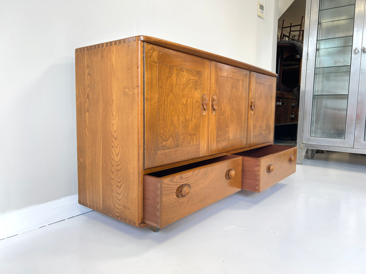
[[[365,2],[306,2],[298,163],[308,148],[366,153]]]

